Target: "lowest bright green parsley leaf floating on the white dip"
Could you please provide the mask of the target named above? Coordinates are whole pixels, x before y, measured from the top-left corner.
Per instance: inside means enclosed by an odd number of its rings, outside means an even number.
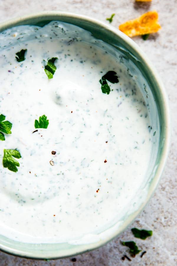
[[[12,157],[13,156],[13,157]],[[10,171],[17,172],[18,169],[16,166],[20,166],[19,162],[14,159],[21,158],[21,154],[18,150],[6,150],[4,149],[4,157],[2,159],[3,166],[8,168]]]

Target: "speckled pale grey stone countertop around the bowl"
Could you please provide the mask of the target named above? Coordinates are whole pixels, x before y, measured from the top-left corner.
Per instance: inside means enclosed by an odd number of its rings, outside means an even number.
[[[112,265],[177,265],[177,0],[152,0],[147,3],[135,3],[134,0],[1,0],[0,22],[43,10],[60,10],[85,14],[106,21],[115,13],[112,25],[118,27],[126,20],[140,16],[149,10],[157,10],[162,29],[159,33],[150,35],[146,41],[141,37],[133,40],[142,48],[153,62],[166,87],[171,108],[171,148],[165,171],[155,194],[145,210],[135,222],[120,236],[105,246],[76,256],[76,262],[71,258],[56,261],[37,261],[23,259],[0,252],[1,266],[44,266],[44,265],[82,265],[82,266],[112,266]],[[109,22],[107,22],[109,23]],[[138,227],[153,230],[153,236],[145,241],[132,237],[131,228]],[[131,261],[121,259],[128,254],[127,248],[120,240],[134,240],[137,246],[146,251],[140,258],[138,254]]]

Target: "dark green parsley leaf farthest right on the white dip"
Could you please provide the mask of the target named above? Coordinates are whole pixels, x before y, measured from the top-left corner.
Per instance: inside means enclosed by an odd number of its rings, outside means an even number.
[[[108,71],[102,78],[101,80],[99,80],[100,84],[101,84],[101,90],[102,93],[106,93],[109,94],[110,93],[110,87],[107,83],[106,80],[108,80],[111,83],[118,83],[118,77],[116,76],[116,72],[115,71]]]

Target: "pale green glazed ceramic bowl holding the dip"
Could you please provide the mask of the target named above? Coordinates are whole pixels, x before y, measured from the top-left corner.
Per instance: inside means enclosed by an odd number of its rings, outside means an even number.
[[[94,37],[105,41],[117,49],[121,55],[120,60],[124,60],[125,65],[129,66],[131,72],[137,74],[138,82],[142,87],[142,93],[145,98],[148,91],[150,120],[153,128],[157,129],[157,132],[147,181],[140,191],[137,192],[138,207],[135,204],[134,211],[125,215],[123,223],[115,224],[109,228],[110,230],[101,240],[84,245],[71,245],[67,243],[25,244],[0,236],[0,249],[2,251],[35,259],[57,259],[86,252],[106,244],[124,231],[142,211],[152,196],[162,174],[170,142],[169,109],[163,84],[144,52],[141,51],[134,41],[116,28],[86,16],[50,11],[1,23],[0,32],[17,25],[37,25],[42,27],[51,20],[60,20],[82,27],[90,31]],[[146,197],[144,198],[142,195],[145,193]]]

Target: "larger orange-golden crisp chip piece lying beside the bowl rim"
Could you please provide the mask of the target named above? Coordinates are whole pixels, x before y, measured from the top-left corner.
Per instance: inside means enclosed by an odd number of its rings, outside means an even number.
[[[119,26],[119,30],[129,37],[155,33],[160,28],[160,24],[158,23],[158,13],[155,10],[149,11],[142,16],[134,20],[129,20]]]

